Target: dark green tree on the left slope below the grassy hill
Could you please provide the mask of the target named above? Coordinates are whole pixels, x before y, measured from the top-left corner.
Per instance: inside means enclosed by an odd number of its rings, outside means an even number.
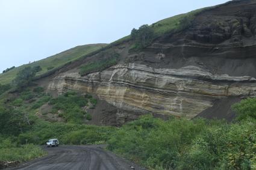
[[[16,78],[13,80],[17,88],[23,88],[30,85],[36,73],[42,70],[40,66],[36,67],[25,67],[17,73]]]

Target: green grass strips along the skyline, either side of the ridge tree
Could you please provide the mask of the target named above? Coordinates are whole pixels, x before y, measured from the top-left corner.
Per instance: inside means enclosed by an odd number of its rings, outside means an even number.
[[[228,3],[228,2],[227,2]],[[207,7],[207,8],[201,8],[198,10],[190,11],[189,13],[180,14],[177,16],[169,17],[167,19],[160,20],[158,22],[153,23],[151,26],[154,29],[155,32],[155,38],[161,37],[165,34],[173,34],[175,32],[182,31],[183,29],[190,26],[190,24],[193,22],[193,19],[205,10],[210,10],[215,7],[218,7],[219,5],[216,5],[214,7]],[[81,56],[89,55],[92,52],[100,52],[101,50],[111,48],[113,46],[122,44],[126,41],[130,40],[130,35],[127,35],[126,37],[120,38],[119,40],[114,41],[110,44],[89,44],[84,46],[77,46],[72,49],[66,50],[64,52],[58,53],[57,55],[50,56],[46,59],[42,59],[37,62],[33,62],[31,64],[25,64],[20,67],[14,68],[13,70],[8,71],[7,73],[0,74],[0,83],[10,83],[11,80],[14,79],[16,76],[17,71],[21,70],[22,68],[31,65],[36,66],[40,65],[43,70],[39,72],[37,75],[41,75],[44,73],[47,73],[48,67],[60,67],[61,65],[66,64],[67,62],[73,61],[75,59],[80,58]],[[104,47],[104,48],[103,48]]]

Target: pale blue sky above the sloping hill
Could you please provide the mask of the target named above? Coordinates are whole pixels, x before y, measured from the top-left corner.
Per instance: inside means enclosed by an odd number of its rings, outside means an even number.
[[[226,0],[0,0],[0,73]]]

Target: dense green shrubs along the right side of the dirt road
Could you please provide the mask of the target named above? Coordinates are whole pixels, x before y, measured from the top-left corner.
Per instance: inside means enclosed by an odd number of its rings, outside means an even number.
[[[144,116],[117,130],[108,150],[149,169],[255,169],[255,103],[234,105],[233,123]]]

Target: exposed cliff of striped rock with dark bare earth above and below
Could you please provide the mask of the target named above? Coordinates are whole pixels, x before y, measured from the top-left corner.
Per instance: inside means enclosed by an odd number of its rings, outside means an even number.
[[[115,114],[111,120],[119,123],[148,112],[225,118],[234,102],[256,96],[255,11],[255,0],[205,10],[189,28],[158,37],[144,49],[131,52],[131,41],[113,47],[120,61],[106,70],[78,73],[90,59],[107,58],[104,51],[71,64],[53,76],[48,90],[95,94],[116,108],[108,117]]]

